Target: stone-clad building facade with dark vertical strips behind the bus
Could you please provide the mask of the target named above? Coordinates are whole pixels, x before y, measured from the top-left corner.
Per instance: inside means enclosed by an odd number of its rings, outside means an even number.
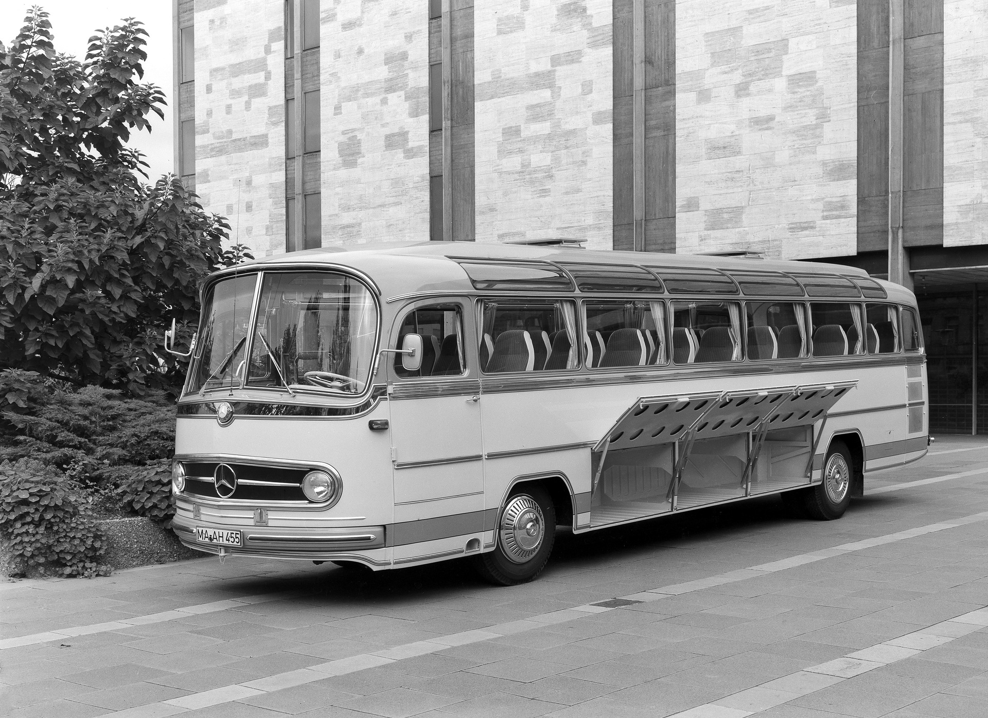
[[[256,255],[863,267],[920,296],[932,431],[988,433],[988,0],[173,2],[176,167]]]

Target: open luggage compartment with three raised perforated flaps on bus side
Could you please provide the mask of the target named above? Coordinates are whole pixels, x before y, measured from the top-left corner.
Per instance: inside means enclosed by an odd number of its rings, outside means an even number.
[[[857,383],[638,399],[591,453],[591,523],[809,484],[827,413]]]

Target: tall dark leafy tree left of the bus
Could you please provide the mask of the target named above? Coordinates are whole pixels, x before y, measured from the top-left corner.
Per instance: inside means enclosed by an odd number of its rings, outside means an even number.
[[[174,391],[184,366],[162,351],[164,327],[176,318],[188,339],[201,280],[253,259],[224,252],[229,225],[178,178],[138,178],[126,141],[165,104],[138,83],[146,35],[126,19],[79,62],[56,54],[35,7],[0,43],[0,371]]]

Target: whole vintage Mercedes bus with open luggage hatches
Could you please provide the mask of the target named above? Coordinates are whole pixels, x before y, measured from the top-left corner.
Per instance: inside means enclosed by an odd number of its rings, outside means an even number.
[[[915,297],[848,267],[426,242],[238,265],[202,299],[173,526],[220,556],[473,555],[510,585],[557,525],[769,494],[838,519],[927,451]]]

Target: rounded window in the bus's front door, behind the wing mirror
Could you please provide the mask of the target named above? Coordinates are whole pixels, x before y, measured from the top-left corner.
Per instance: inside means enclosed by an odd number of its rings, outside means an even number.
[[[406,334],[422,337],[422,365],[406,371],[401,355],[395,355],[394,373],[403,378],[418,376],[456,376],[463,373],[462,319],[458,304],[434,304],[412,309],[401,322],[395,349],[400,349]]]

